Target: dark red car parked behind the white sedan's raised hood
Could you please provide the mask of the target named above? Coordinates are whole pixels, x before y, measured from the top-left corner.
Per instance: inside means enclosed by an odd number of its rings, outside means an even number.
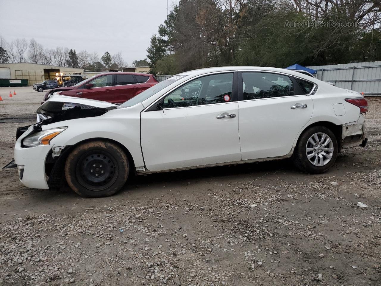
[[[123,103],[157,84],[152,74],[106,72],[83,80],[72,87],[58,87],[45,94],[46,101],[54,92],[61,95]]]

